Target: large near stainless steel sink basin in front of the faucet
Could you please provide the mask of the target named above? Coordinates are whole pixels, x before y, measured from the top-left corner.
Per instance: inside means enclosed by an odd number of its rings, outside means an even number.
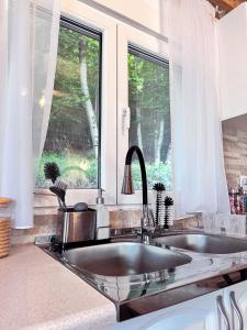
[[[82,272],[103,276],[138,275],[191,262],[188,255],[134,242],[78,248],[65,254],[68,262]]]

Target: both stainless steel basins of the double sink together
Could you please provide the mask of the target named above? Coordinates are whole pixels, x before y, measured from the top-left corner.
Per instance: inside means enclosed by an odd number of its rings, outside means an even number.
[[[135,242],[78,248],[65,252],[67,262],[83,273],[102,276],[132,276],[188,264],[183,253],[161,248],[179,248],[199,253],[229,254],[247,251],[247,241],[210,234],[177,234],[154,240],[156,245]]]

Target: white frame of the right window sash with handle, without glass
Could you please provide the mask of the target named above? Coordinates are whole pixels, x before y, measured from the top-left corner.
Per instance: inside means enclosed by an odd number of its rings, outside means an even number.
[[[125,155],[128,150],[128,128],[123,116],[128,108],[128,45],[137,46],[168,59],[168,44],[155,36],[124,23],[117,24],[117,205],[142,205],[142,190],[122,195]],[[127,120],[128,121],[128,120]],[[151,201],[151,190],[148,190]]]

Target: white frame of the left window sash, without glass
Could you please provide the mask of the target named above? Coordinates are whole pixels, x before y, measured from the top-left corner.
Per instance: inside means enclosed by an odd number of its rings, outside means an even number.
[[[116,22],[77,0],[61,0],[61,15],[102,33],[101,186],[105,204],[116,205]],[[97,189],[68,189],[67,205],[96,204]],[[36,189],[34,207],[57,207],[48,189]]]

